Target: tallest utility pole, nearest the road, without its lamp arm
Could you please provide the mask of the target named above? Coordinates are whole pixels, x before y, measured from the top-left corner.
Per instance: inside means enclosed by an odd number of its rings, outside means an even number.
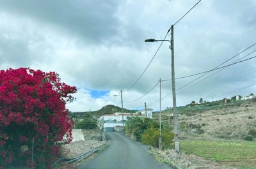
[[[179,153],[179,139],[178,139],[178,122],[177,122],[177,109],[176,109],[176,91],[175,91],[175,71],[174,71],[174,45],[173,45],[173,25],[172,38],[171,38],[171,50],[172,50],[172,96],[173,96],[173,117],[174,117],[174,141],[175,141],[175,151]]]

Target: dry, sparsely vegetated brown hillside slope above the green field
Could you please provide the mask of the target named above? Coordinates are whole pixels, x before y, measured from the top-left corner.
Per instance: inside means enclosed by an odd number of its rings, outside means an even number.
[[[177,108],[180,136],[201,132],[214,138],[241,139],[256,126],[255,108],[256,103],[247,101],[211,108]],[[164,124],[168,124],[168,114],[170,112],[161,112],[161,121]],[[159,121],[159,112],[154,113],[153,118]],[[171,125],[173,124],[171,120]]]

